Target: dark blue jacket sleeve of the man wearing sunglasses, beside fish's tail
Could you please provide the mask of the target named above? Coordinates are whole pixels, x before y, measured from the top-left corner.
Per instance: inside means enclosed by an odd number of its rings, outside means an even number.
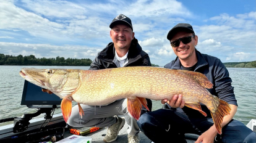
[[[220,59],[215,63],[215,91],[218,97],[228,104],[237,105],[237,100],[234,95],[234,87],[231,85],[232,80],[229,77],[229,72]]]

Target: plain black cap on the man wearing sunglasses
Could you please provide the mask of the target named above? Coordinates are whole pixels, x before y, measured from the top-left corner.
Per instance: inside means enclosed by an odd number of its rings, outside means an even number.
[[[186,32],[190,32],[190,33],[193,33],[195,34],[192,26],[188,23],[179,23],[177,25],[175,25],[175,27],[173,27],[168,35],[167,35],[167,39],[171,40],[173,38],[173,36],[179,32],[179,31],[186,31]]]

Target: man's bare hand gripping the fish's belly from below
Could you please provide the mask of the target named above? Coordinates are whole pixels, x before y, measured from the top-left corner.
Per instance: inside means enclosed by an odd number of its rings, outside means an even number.
[[[182,100],[181,94],[179,94],[179,96],[174,95],[173,98],[171,98],[171,100],[167,100],[167,99],[161,100],[162,104],[165,104],[166,102],[173,108],[178,108],[178,107],[183,108],[185,106],[185,100]]]

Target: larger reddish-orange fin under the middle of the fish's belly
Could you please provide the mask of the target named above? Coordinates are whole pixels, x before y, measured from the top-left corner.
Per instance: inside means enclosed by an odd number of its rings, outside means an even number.
[[[138,97],[127,98],[127,108],[130,115],[132,115],[136,120],[139,120],[140,112],[142,110],[142,103],[140,102],[140,99]]]

